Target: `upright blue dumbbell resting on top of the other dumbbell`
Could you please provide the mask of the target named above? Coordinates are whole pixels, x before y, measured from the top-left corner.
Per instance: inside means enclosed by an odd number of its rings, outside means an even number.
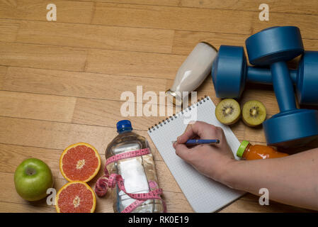
[[[297,109],[293,82],[286,61],[304,52],[300,29],[267,28],[246,39],[251,65],[270,65],[280,113],[263,122],[268,145],[295,147],[318,137],[318,111]]]

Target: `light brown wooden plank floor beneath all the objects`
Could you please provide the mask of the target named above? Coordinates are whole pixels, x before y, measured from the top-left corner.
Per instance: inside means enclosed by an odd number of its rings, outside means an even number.
[[[46,21],[47,4],[57,6],[57,21]],[[105,162],[105,149],[115,135],[120,94],[142,85],[159,94],[174,81],[178,67],[196,43],[219,48],[244,45],[251,34],[270,26],[299,26],[306,50],[318,50],[318,1],[269,0],[270,20],[259,21],[263,0],[0,0],[0,211],[55,212],[45,201],[21,199],[13,184],[17,165],[27,157],[47,162],[55,188],[66,180],[59,155],[68,145],[94,145]],[[210,77],[198,96],[217,104]],[[272,88],[249,86],[241,102],[263,101],[268,117],[278,113]],[[146,102],[146,101],[144,101]],[[169,212],[193,212],[181,189],[147,135],[164,117],[129,117],[148,138],[159,184]],[[261,128],[239,122],[239,140],[265,144]],[[318,142],[310,147],[317,147]],[[101,175],[101,174],[100,174]],[[96,179],[91,182],[94,185]],[[306,211],[246,194],[221,212]],[[96,211],[112,212],[109,197]]]

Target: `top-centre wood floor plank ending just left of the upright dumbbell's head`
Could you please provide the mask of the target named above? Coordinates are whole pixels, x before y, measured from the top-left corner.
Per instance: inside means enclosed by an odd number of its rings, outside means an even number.
[[[96,3],[92,23],[250,34],[254,14],[256,13],[246,11]]]

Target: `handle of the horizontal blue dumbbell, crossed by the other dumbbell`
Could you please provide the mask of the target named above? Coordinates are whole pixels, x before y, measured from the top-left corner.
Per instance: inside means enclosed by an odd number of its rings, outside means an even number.
[[[289,70],[294,84],[297,83],[297,70]],[[259,67],[247,67],[247,82],[255,84],[273,84],[271,70]]]

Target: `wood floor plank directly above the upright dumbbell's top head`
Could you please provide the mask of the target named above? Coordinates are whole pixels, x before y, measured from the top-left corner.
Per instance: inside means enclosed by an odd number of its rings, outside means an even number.
[[[310,23],[308,23],[310,21]],[[318,15],[271,13],[269,21],[259,21],[258,15],[252,24],[252,33],[273,26],[297,26],[300,28],[302,38],[317,39]]]

